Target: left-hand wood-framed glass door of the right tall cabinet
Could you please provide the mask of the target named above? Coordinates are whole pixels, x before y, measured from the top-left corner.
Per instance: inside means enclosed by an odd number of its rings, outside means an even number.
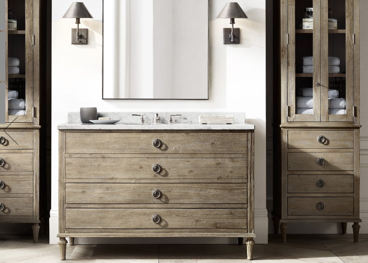
[[[320,121],[320,1],[288,0],[287,121]]]

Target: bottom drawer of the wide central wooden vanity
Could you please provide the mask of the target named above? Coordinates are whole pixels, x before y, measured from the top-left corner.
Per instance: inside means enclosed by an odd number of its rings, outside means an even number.
[[[155,214],[159,216],[158,223],[153,222],[152,216]],[[244,229],[246,214],[245,208],[66,208],[65,228]]]

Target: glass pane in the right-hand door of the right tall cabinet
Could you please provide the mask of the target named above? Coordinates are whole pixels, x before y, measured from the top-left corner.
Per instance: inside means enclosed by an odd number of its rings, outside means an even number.
[[[345,0],[328,0],[328,114],[346,114]]]

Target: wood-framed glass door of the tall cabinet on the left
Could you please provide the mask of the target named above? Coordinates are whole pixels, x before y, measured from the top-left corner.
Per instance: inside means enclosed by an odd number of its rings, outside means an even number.
[[[33,122],[32,0],[7,0],[7,122]]]

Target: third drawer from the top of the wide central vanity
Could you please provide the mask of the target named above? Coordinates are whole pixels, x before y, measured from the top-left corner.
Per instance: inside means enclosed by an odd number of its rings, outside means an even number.
[[[158,197],[157,197],[158,196]],[[246,203],[240,183],[66,183],[66,203]],[[156,198],[157,197],[157,198]]]

